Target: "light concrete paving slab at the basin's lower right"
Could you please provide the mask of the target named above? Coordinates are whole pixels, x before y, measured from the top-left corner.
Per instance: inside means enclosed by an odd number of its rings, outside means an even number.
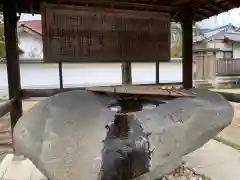
[[[215,140],[186,155],[183,160],[196,173],[212,180],[239,180],[240,152]]]

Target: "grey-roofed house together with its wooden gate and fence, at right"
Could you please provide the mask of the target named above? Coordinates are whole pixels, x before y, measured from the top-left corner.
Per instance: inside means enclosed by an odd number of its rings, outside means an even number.
[[[240,28],[229,24],[194,37],[195,79],[213,82],[221,76],[240,75]]]

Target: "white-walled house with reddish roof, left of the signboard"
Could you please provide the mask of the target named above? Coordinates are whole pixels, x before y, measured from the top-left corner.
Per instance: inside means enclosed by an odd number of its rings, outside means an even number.
[[[40,60],[43,58],[41,20],[22,21],[18,26],[19,48],[23,53],[20,60]]]

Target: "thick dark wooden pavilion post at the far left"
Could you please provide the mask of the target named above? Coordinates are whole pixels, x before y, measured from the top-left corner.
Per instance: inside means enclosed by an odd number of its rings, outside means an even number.
[[[5,49],[7,59],[9,99],[16,98],[11,108],[11,127],[22,115],[21,83],[18,62],[16,6],[10,1],[3,2]]]

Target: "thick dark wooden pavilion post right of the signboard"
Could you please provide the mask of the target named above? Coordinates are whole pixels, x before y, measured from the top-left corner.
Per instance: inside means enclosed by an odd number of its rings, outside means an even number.
[[[182,18],[182,78],[183,88],[190,89],[193,86],[193,20],[189,14]]]

